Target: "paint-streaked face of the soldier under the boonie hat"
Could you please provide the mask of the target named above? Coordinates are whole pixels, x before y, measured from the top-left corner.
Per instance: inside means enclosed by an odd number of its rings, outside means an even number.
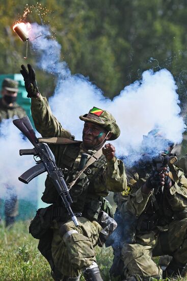
[[[103,143],[108,131],[92,122],[85,122],[83,129],[83,144],[85,148],[91,149]]]

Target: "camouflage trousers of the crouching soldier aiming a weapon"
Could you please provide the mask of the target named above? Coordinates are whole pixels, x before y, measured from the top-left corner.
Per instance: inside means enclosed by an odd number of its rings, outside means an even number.
[[[137,243],[124,244],[122,260],[126,279],[138,276],[162,277],[162,269],[153,261],[153,256],[169,254],[179,263],[187,262],[187,219],[173,220],[165,232],[149,231],[137,236]]]

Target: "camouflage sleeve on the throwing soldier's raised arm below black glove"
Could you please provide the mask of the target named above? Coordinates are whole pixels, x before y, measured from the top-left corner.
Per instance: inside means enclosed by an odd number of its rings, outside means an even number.
[[[71,133],[52,115],[46,98],[41,95],[38,98],[31,98],[31,112],[35,127],[43,137],[72,138]]]

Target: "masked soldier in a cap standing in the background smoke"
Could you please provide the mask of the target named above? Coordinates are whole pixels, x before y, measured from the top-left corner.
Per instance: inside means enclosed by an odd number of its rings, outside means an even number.
[[[0,123],[4,119],[22,118],[26,115],[24,109],[16,103],[18,82],[5,78],[2,84],[2,98],[0,99]],[[14,223],[18,215],[18,201],[14,186],[6,186],[8,199],[5,200],[6,226]]]

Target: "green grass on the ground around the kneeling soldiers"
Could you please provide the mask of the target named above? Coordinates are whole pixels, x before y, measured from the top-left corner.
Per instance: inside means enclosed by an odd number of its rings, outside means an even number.
[[[0,226],[0,280],[52,281],[50,267],[37,249],[38,240],[28,231],[29,221],[19,221],[7,230]],[[110,248],[96,248],[97,263],[104,281],[109,281],[113,254]],[[83,281],[84,278],[81,278]],[[185,280],[187,278],[179,278]]]

